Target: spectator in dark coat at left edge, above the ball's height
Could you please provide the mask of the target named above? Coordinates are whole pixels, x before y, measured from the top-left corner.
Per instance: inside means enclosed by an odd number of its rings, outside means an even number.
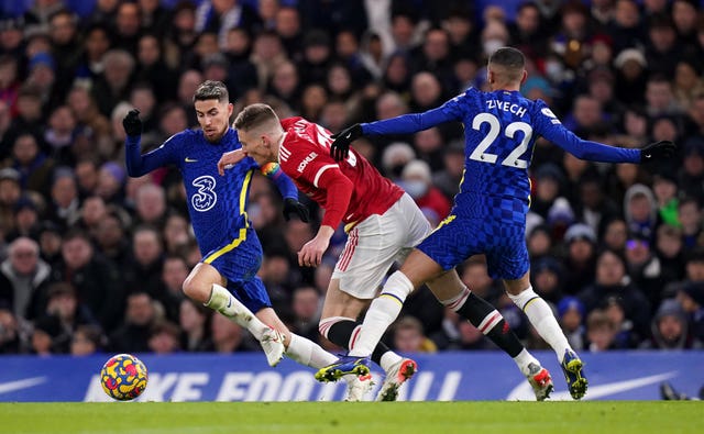
[[[40,258],[38,244],[19,237],[10,244],[8,258],[0,264],[0,303],[16,318],[34,319],[43,313],[37,307],[45,291],[51,267]]]

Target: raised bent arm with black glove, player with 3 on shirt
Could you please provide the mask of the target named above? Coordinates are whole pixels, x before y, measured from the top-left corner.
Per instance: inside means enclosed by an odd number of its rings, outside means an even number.
[[[169,151],[170,147],[166,147],[166,143],[156,149],[142,155],[142,151],[140,148],[140,143],[142,141],[142,120],[140,120],[139,110],[130,110],[122,120],[122,126],[127,133],[127,138],[124,141],[124,163],[128,168],[128,174],[131,177],[146,175],[158,167],[174,163],[174,156]],[[174,137],[169,138],[169,141],[172,140],[174,140]]]

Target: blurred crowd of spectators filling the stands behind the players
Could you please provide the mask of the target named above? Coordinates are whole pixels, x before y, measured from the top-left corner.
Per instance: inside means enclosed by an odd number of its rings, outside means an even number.
[[[484,88],[486,57],[504,45],[528,56],[522,92],[580,136],[679,145],[672,164],[637,166],[595,165],[537,143],[531,280],[570,344],[704,343],[698,1],[15,3],[0,20],[0,354],[258,347],[183,296],[200,259],[185,191],[175,169],[127,177],[121,121],[130,109],[144,121],[142,143],[156,147],[197,125],[191,97],[212,79],[227,84],[235,113],[263,101],[338,132]],[[463,175],[461,125],[354,146],[433,225],[449,213]],[[265,252],[261,277],[292,331],[321,342],[321,300],[345,235],[339,230],[321,266],[300,268],[296,252],[316,227],[285,222],[280,208],[272,185],[254,178],[248,214]],[[529,348],[544,347],[483,258],[459,271]],[[426,289],[385,340],[400,352],[493,348]]]

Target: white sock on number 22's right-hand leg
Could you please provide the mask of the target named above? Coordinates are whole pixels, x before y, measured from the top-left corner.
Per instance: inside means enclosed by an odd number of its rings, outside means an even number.
[[[532,287],[528,287],[518,296],[509,293],[508,297],[526,313],[540,337],[554,349],[558,360],[562,363],[564,352],[572,348],[570,348],[570,343],[568,343],[568,338],[562,333],[562,329],[548,303],[532,290]]]

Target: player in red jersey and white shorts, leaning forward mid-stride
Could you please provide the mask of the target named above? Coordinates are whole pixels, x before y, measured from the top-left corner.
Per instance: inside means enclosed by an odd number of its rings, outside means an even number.
[[[330,132],[318,124],[302,118],[279,121],[271,107],[252,104],[240,112],[234,127],[242,148],[223,154],[218,163],[221,175],[245,156],[261,166],[278,163],[298,189],[324,209],[317,235],[298,253],[300,266],[320,265],[336,227],[345,225],[348,242],[332,274],[319,327],[331,342],[352,348],[362,326],[356,319],[365,308],[365,321],[375,326],[387,321],[385,303],[403,304],[405,297],[393,293],[377,298],[378,288],[392,264],[403,261],[430,233],[430,223],[403,189],[353,149],[345,159],[336,162],[330,156]],[[514,358],[538,400],[548,397],[552,381],[547,369],[524,348],[501,313],[474,296],[454,269],[429,281],[428,287],[442,304],[470,320]],[[416,372],[416,363],[383,343],[374,348],[371,359],[386,372],[377,400],[395,400],[400,385]],[[369,377],[369,358],[342,357],[319,370],[316,378]]]

